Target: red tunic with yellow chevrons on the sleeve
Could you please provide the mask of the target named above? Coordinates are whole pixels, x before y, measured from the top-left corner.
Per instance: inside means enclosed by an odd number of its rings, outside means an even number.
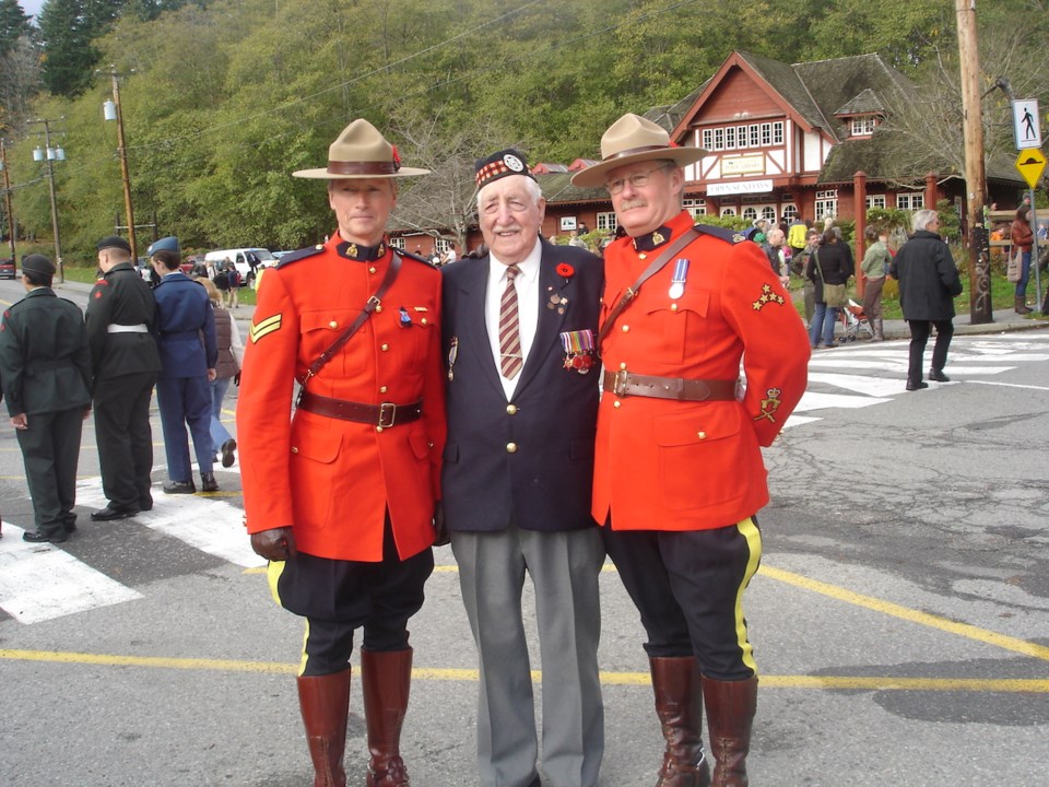
[[[292,409],[292,378],[361,314],[392,254],[338,254],[337,233],[313,256],[266,274],[244,359],[237,444],[248,532],[293,526],[297,548],[378,562],[389,508],[401,559],[433,543],[445,442],[440,274],[405,257],[393,286],[308,390],[365,404],[411,404],[423,416],[389,428]]]

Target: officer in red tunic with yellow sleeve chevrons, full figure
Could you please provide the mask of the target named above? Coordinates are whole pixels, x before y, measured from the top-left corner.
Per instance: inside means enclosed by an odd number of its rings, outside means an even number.
[[[244,506],[280,603],[307,620],[299,705],[317,787],[345,785],[342,757],[354,630],[368,787],[406,785],[400,731],[412,650],[408,619],[433,572],[444,447],[440,273],[385,235],[397,150],[366,120],[329,148],[339,231],[266,275],[237,404]],[[352,329],[352,330],[351,330]],[[302,393],[291,420],[293,379]]]

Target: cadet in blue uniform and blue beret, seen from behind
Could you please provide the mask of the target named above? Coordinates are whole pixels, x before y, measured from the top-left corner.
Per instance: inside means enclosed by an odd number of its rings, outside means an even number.
[[[156,401],[161,408],[170,478],[170,482],[164,484],[164,492],[192,494],[197,491],[189,465],[186,424],[193,436],[201,489],[214,492],[219,483],[212,472],[209,384],[215,378],[219,360],[215,314],[204,287],[179,270],[178,238],[161,238],[150,246],[149,255],[153,270],[161,277],[153,297],[156,298],[157,345],[163,367],[156,381]]]

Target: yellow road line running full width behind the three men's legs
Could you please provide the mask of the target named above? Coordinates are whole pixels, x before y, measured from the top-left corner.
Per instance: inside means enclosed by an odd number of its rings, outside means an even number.
[[[0,649],[0,659],[104,667],[141,667],[151,669],[204,670],[212,672],[250,672],[296,674],[298,666],[278,661],[241,661],[234,659],[163,658],[156,656],[119,656],[56,650]],[[412,670],[416,680],[476,682],[475,669]],[[542,672],[532,670],[532,680],[542,680]],[[604,685],[650,684],[647,672],[601,672]],[[768,689],[823,689],[840,691],[969,691],[1049,693],[1049,680],[982,680],[970,678],[877,678],[844,676],[764,676],[762,686]]]

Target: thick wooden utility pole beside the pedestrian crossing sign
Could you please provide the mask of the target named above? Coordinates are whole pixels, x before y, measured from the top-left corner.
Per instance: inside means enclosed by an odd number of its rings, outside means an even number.
[[[965,204],[969,247],[969,319],[973,325],[993,322],[991,255],[983,203],[987,171],[983,165],[983,113],[980,99],[980,54],[976,38],[976,0],[955,0],[958,16],[958,55],[962,61],[962,131],[965,144]]]

